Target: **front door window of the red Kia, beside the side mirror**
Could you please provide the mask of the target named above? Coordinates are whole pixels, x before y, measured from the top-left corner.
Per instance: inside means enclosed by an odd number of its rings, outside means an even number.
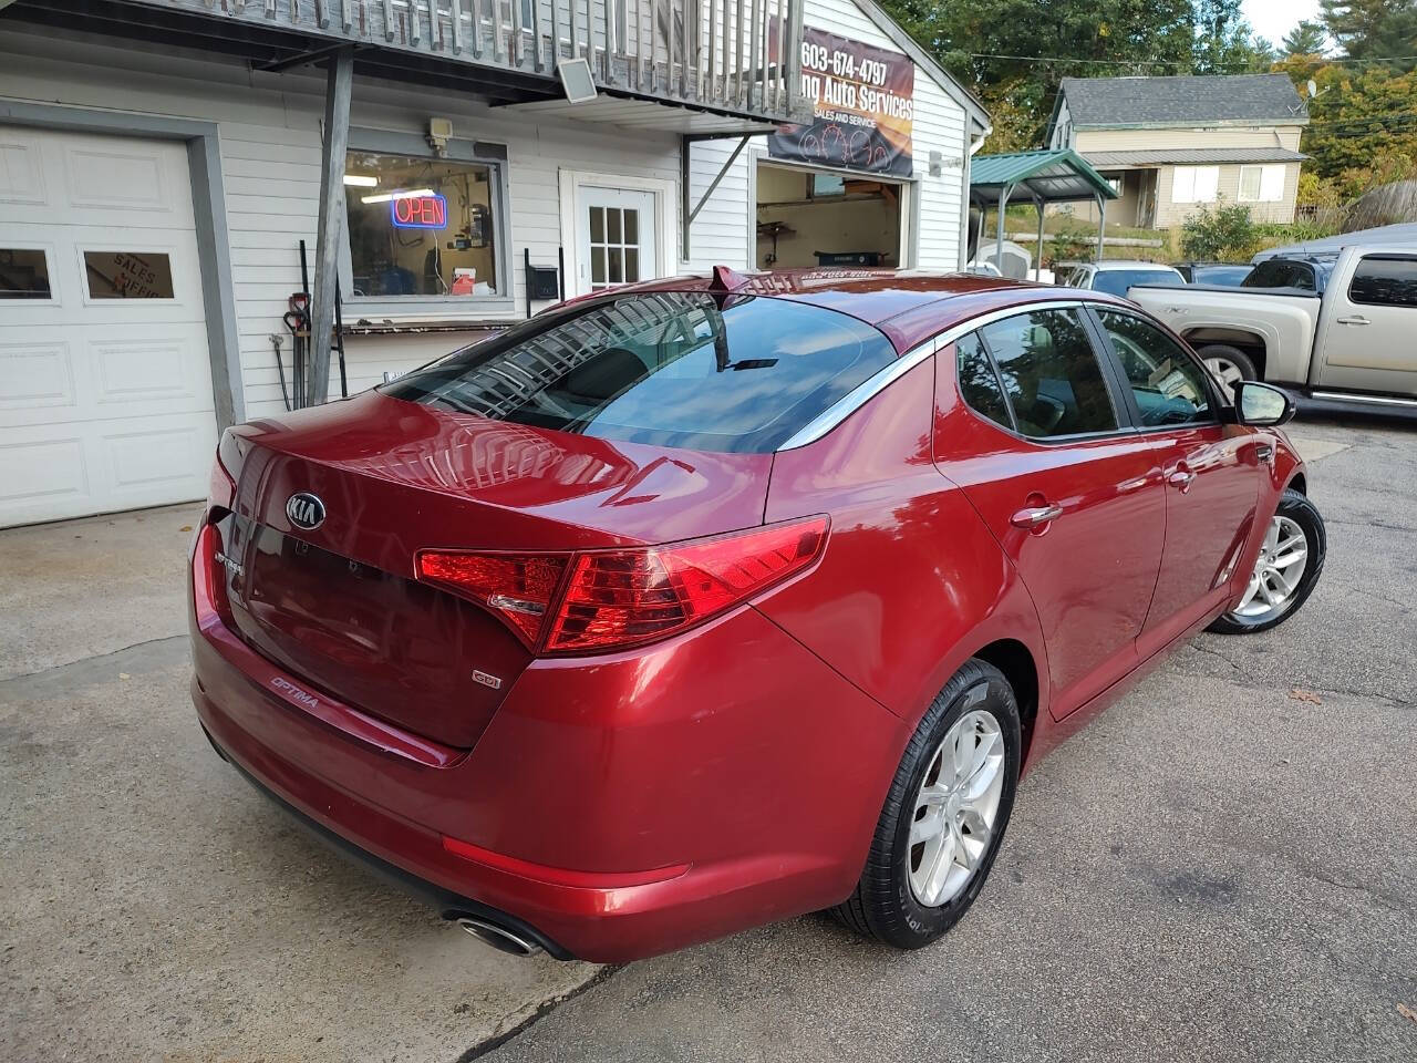
[[[1097,312],[1136,398],[1142,425],[1209,424],[1216,420],[1204,370],[1170,336],[1131,313]]]

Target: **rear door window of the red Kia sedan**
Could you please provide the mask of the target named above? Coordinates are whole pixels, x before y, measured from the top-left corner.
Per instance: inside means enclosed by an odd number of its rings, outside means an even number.
[[[1023,435],[1117,429],[1102,367],[1077,310],[1033,310],[981,329]]]

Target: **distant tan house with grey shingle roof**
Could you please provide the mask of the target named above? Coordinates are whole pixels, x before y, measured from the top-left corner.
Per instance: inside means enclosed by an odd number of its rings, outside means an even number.
[[[1121,194],[1108,221],[1169,228],[1223,200],[1288,223],[1308,120],[1287,74],[1063,78],[1047,137]]]

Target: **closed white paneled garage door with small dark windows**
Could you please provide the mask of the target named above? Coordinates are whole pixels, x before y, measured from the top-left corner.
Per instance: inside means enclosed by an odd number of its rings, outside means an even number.
[[[0,126],[0,527],[207,493],[181,143]]]

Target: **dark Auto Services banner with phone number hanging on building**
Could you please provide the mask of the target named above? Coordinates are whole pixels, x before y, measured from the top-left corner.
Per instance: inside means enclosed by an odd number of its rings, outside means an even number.
[[[908,57],[803,27],[802,95],[813,101],[813,122],[778,126],[768,137],[774,159],[910,176],[915,64]]]

